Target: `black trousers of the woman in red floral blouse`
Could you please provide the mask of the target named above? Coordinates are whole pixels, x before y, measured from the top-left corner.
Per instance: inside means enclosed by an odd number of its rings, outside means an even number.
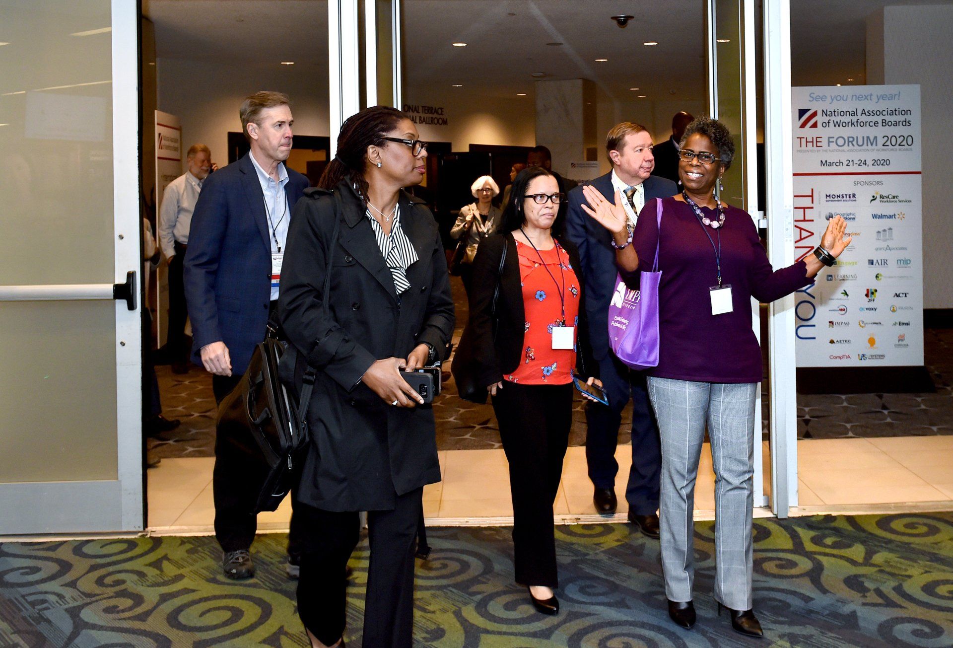
[[[510,462],[517,582],[557,587],[553,502],[573,424],[573,385],[504,382],[493,409]]]

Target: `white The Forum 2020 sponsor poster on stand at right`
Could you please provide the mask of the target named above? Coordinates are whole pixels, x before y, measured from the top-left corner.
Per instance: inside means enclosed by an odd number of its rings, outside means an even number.
[[[923,365],[920,86],[792,89],[795,258],[850,246],[796,296],[799,367]]]

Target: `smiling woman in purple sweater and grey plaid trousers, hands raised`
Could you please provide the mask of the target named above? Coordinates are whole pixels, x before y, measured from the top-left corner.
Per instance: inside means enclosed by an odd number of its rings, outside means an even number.
[[[813,254],[774,271],[751,216],[714,195],[735,153],[728,129],[715,119],[696,119],[680,147],[683,190],[661,200],[660,228],[656,201],[645,205],[634,231],[627,229],[618,192],[613,204],[585,187],[589,207],[582,208],[613,233],[627,277],[652,270],[659,246],[659,366],[648,370],[648,388],[661,435],[659,518],[669,616],[683,628],[695,624],[692,514],[707,424],[718,518],[715,598],[736,631],[760,637],[752,610],[751,514],[761,354],[751,297],[770,302],[810,285],[850,238],[843,238],[838,215]]]

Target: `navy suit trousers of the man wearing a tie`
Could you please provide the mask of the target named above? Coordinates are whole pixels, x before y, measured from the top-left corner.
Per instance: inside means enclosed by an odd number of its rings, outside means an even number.
[[[598,361],[599,378],[609,406],[586,403],[586,463],[596,488],[613,488],[618,461],[618,426],[632,398],[632,469],[625,488],[629,511],[649,516],[659,509],[661,442],[659,423],[649,403],[645,373],[632,371],[610,352]]]

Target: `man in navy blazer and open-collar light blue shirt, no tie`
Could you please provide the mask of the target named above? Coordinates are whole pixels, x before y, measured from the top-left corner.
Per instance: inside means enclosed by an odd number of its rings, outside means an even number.
[[[252,151],[211,174],[195,203],[185,254],[185,294],[193,360],[212,373],[215,402],[233,390],[255,345],[265,339],[269,315],[278,303],[292,208],[308,187],[304,175],[284,164],[292,150],[289,104],[280,92],[261,91],[245,99],[239,116]],[[216,439],[215,537],[230,578],[254,574],[249,554],[257,528],[254,476],[242,456]],[[289,555],[294,559],[291,546]]]

